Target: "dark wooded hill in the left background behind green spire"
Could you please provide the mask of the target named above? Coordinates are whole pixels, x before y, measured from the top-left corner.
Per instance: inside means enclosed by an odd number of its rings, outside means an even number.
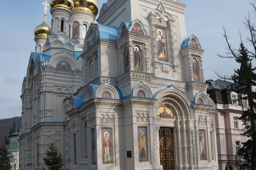
[[[21,126],[21,117],[16,117],[16,125],[17,125],[17,129],[19,130],[20,126]],[[13,127],[13,122],[14,122],[14,118],[9,118],[9,119],[0,119],[0,143],[4,143],[4,136],[6,135],[9,136],[9,132]],[[9,140],[9,138],[7,138],[7,140]]]

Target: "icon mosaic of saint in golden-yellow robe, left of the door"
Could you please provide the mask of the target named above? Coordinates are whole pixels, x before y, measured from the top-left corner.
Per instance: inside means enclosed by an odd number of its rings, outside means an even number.
[[[138,127],[139,162],[148,161],[148,136],[146,127]]]

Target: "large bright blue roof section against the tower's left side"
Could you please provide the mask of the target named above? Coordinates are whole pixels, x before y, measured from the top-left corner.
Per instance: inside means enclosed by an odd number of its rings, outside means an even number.
[[[108,27],[102,24],[93,23],[98,25],[100,32],[100,39],[108,40],[108,41],[116,41],[118,36],[118,28]]]

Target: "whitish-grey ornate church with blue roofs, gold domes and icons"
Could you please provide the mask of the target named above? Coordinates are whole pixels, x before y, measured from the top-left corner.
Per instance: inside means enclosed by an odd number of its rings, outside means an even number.
[[[22,85],[19,169],[44,167],[56,143],[65,170],[217,170],[217,110],[185,7],[51,0]]]

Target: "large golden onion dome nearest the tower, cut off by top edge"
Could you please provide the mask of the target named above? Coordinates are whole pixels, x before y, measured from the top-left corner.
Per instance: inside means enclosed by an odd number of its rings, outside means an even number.
[[[73,11],[87,11],[92,13],[95,17],[99,11],[99,3],[97,0],[73,0]]]

